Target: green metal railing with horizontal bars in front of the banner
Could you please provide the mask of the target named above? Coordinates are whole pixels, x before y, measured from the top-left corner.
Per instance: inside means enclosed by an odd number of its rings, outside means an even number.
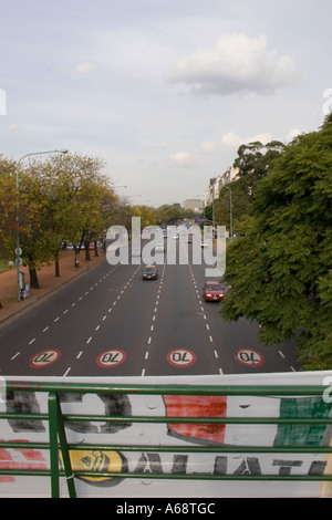
[[[323,401],[325,386],[193,386],[193,385],[106,385],[106,384],[75,384],[75,383],[31,383],[7,382],[7,392],[23,393],[44,393],[48,395],[46,413],[0,413],[0,419],[29,419],[44,420],[49,424],[48,443],[23,443],[20,441],[20,449],[48,449],[50,450],[50,469],[9,469],[0,465],[0,476],[44,476],[51,479],[51,496],[60,496],[60,479],[65,478],[68,492],[70,497],[76,497],[75,478],[82,477],[121,477],[121,478],[142,478],[146,479],[146,472],[129,471],[91,471],[75,470],[72,467],[72,450],[92,449],[92,450],[117,450],[120,453],[145,451],[145,453],[180,453],[180,454],[329,454],[332,453],[332,446],[322,446],[319,443],[314,445],[286,445],[286,446],[229,446],[229,445],[118,445],[118,444],[69,444],[65,431],[66,422],[110,422],[116,424],[124,423],[164,423],[164,424],[200,424],[200,425],[331,425],[331,410],[326,416],[303,417],[169,417],[169,416],[124,416],[124,415],[84,415],[84,414],[63,414],[61,408],[61,395],[63,394],[107,394],[107,395],[159,395],[159,396],[257,396],[257,397],[320,397]],[[324,402],[325,403],[325,402]],[[329,405],[331,406],[331,405]],[[329,409],[328,406],[328,409]],[[1,422],[0,422],[0,438]],[[328,444],[328,443],[326,443]],[[330,443],[329,443],[330,444]],[[15,441],[0,441],[0,448],[17,448]],[[60,464],[60,456],[62,464]],[[259,480],[259,481],[332,481],[332,475],[215,475],[205,472],[184,474],[184,472],[149,472],[148,479],[185,479],[185,480]]]

